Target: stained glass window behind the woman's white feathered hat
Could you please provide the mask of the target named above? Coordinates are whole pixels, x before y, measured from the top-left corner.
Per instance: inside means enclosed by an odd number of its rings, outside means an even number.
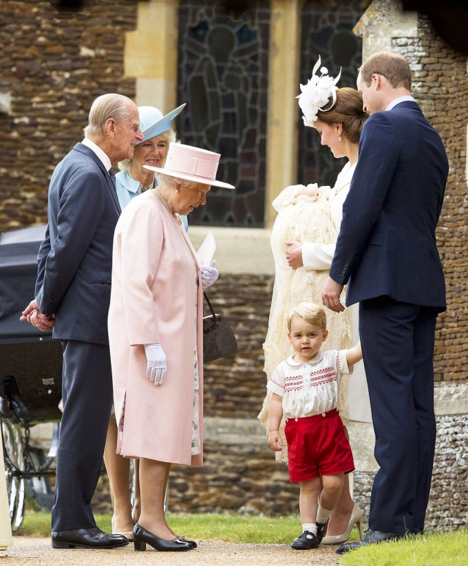
[[[321,63],[332,76],[341,67],[339,87],[356,88],[357,68],[361,65],[361,38],[352,33],[368,7],[367,0],[319,1],[304,4],[301,37],[301,84],[312,74],[319,55]],[[299,94],[299,85],[297,86]],[[320,136],[305,127],[299,116],[299,159],[297,180],[304,185],[317,182],[333,186],[345,158],[335,159],[328,147],[322,147]]]

